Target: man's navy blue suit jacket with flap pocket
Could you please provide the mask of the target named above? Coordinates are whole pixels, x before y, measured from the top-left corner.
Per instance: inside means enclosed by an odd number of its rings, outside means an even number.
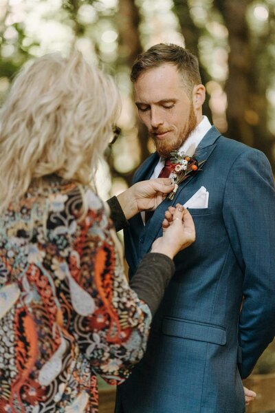
[[[179,186],[173,201],[164,200],[146,226],[138,214],[125,231],[126,259],[135,273],[162,235],[167,207],[184,204],[201,186],[209,192],[208,208],[190,209],[197,239],[175,257],[176,272],[153,319],[146,354],[118,386],[116,412],[243,413],[241,377],[248,377],[274,338],[270,164],[260,151],[214,127],[196,157],[206,160],[203,170]],[[149,157],[134,182],[150,178],[157,160],[157,154]]]

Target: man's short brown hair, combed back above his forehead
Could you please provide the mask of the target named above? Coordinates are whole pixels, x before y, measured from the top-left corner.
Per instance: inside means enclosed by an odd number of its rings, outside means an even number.
[[[184,47],[172,43],[159,43],[150,47],[146,52],[139,54],[132,67],[131,81],[137,81],[140,74],[146,70],[159,67],[165,63],[177,67],[182,75],[184,86],[189,92],[192,92],[195,85],[201,83],[197,57]]]

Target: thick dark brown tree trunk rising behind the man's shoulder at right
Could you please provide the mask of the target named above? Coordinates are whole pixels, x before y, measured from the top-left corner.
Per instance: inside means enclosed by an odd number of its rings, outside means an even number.
[[[272,137],[267,131],[267,83],[263,81],[258,63],[261,52],[256,52],[252,45],[246,20],[250,3],[252,0],[215,1],[228,28],[230,46],[229,75],[225,85],[228,96],[227,136],[262,150],[272,163]]]

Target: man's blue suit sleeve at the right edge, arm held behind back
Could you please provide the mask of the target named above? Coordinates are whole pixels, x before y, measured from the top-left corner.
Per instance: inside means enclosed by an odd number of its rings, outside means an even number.
[[[241,153],[225,185],[223,218],[243,271],[239,317],[242,377],[248,377],[275,335],[275,189],[263,153]]]

